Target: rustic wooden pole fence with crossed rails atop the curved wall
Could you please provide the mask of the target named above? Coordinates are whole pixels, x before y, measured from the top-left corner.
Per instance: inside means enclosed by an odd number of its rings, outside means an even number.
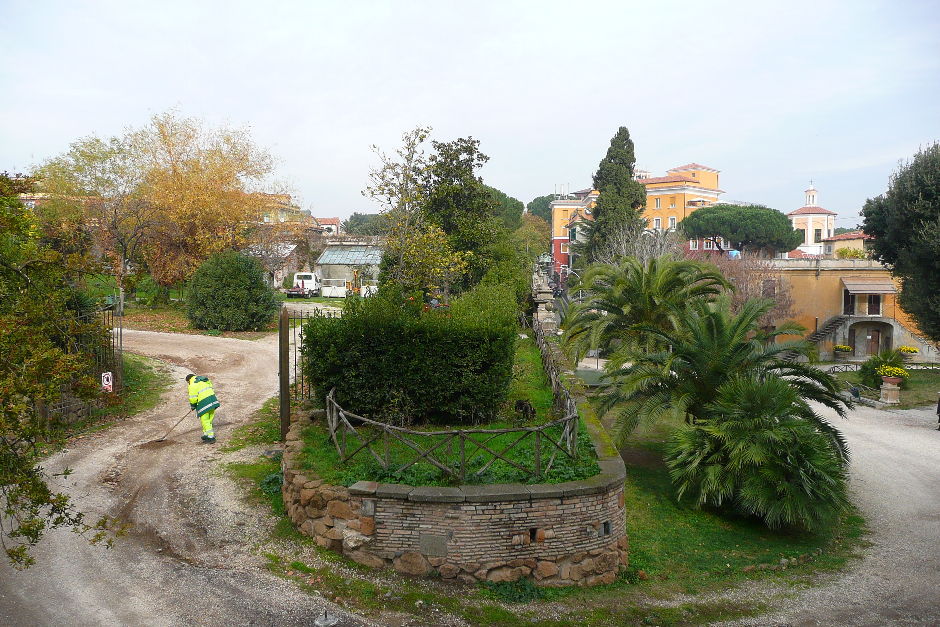
[[[562,384],[561,371],[556,365],[556,360],[545,338],[541,335],[538,322],[536,322],[536,341],[541,350],[545,373],[552,382],[556,408],[564,417],[532,427],[415,431],[344,410],[337,403],[337,390],[333,388],[326,397],[326,423],[330,431],[330,439],[337,447],[340,462],[348,462],[358,453],[366,451],[363,454],[371,454],[386,471],[392,471],[394,465],[397,466],[394,472],[399,474],[415,463],[424,462],[430,463],[453,478],[465,481],[468,464],[474,462],[478,456],[486,462],[476,471],[476,476],[486,472],[496,460],[502,460],[529,475],[541,478],[552,469],[552,464],[555,463],[559,452],[573,460],[578,450],[577,406]],[[495,438],[509,433],[513,434],[509,445],[491,444]],[[509,459],[509,451],[520,447],[529,438],[534,439],[534,455],[531,462],[526,463],[527,456]],[[393,464],[392,447],[397,447],[399,450],[404,447],[412,456],[403,463]],[[543,449],[546,448],[552,452],[543,467],[546,452]]]

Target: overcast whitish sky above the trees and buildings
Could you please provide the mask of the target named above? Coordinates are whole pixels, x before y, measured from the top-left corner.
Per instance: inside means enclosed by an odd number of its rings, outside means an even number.
[[[839,217],[940,139],[935,1],[2,0],[0,40],[0,170],[179,106],[250,124],[324,217],[375,212],[368,147],[418,124],[525,202],[586,187],[624,125],[654,176],[784,212],[812,179]]]

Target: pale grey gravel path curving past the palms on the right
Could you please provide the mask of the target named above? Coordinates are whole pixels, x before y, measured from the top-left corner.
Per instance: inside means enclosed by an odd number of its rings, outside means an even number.
[[[849,572],[734,625],[940,625],[940,431],[933,408],[833,416],[852,447],[854,503],[873,546]],[[746,595],[746,593],[745,593]],[[773,603],[773,602],[771,602]]]

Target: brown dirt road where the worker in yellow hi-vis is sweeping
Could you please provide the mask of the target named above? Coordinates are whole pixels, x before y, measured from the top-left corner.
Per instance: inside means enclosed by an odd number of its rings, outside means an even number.
[[[166,401],[45,465],[74,468],[68,492],[81,509],[93,520],[121,516],[132,524],[130,534],[105,551],[54,532],[30,570],[0,567],[0,624],[282,627],[312,625],[326,606],[340,625],[374,624],[260,568],[266,560],[251,547],[273,523],[244,506],[241,489],[219,476],[218,448],[200,444],[196,418],[183,421],[165,446],[135,446],[163,435],[189,409],[182,381],[189,371],[215,384],[222,401],[215,431],[224,442],[276,394],[276,337],[124,331],[124,348],[179,365]]]

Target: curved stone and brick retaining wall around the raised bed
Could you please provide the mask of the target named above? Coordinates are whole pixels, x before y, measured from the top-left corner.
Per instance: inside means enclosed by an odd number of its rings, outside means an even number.
[[[344,488],[298,469],[300,431],[311,424],[299,415],[284,450],[284,503],[301,533],[372,568],[435,570],[464,583],[524,576],[540,586],[612,583],[628,565],[625,468],[603,427],[586,422],[601,474],[583,481]]]

